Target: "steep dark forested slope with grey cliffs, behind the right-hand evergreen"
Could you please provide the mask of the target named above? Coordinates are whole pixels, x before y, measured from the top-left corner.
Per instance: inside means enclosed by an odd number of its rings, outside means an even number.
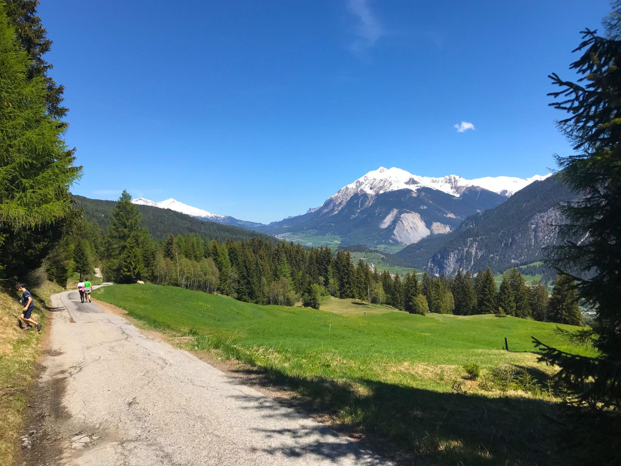
[[[397,257],[449,276],[458,269],[490,267],[498,273],[537,262],[543,248],[557,241],[556,204],[573,198],[556,178],[535,181],[496,208],[467,217],[455,231],[410,244]]]

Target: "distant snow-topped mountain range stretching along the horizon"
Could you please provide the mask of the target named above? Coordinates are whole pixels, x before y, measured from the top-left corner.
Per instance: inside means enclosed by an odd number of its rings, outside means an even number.
[[[408,245],[451,232],[469,215],[494,208],[533,181],[548,176],[466,180],[456,175],[432,178],[380,167],[344,186],[321,206],[268,225],[212,214],[175,199],[156,203],[138,198],[132,202],[273,235],[334,235],[343,245]]]

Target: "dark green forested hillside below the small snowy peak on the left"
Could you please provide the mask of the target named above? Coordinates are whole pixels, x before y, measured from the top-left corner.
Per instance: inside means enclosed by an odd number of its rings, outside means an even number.
[[[112,209],[116,201],[89,199],[84,196],[73,196],[76,209],[84,209],[86,220],[96,220],[99,226],[107,229],[112,224]],[[209,237],[219,241],[232,239],[233,241],[247,241],[253,236],[271,239],[266,234],[250,231],[242,227],[222,225],[216,222],[207,222],[181,212],[170,209],[160,209],[152,206],[138,206],[144,225],[148,228],[153,239],[165,239],[166,235],[187,235],[196,233],[202,237]],[[276,239],[273,239],[276,241]]]

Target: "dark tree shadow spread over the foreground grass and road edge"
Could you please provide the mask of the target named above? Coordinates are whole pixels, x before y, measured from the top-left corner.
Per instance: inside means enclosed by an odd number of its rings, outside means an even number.
[[[310,439],[302,445],[285,442],[266,446],[265,452],[271,454],[313,454],[332,460],[353,455],[361,460],[373,450],[408,465],[584,464],[579,442],[570,437],[567,429],[566,411],[545,398],[489,398],[368,379],[295,377],[278,368],[240,368],[232,372],[243,376],[240,383],[247,383],[250,377],[252,384],[294,390],[301,395],[288,401],[297,410],[287,410],[288,414],[276,401],[240,395],[247,409],[261,408],[265,412],[266,433]],[[324,414],[324,419],[337,423],[334,427],[338,431],[353,437],[363,434],[365,441],[357,446],[343,445],[330,437],[335,435],[330,434],[334,432],[332,427],[322,425],[267,427],[271,416],[301,413]],[[383,464],[378,457],[371,458],[379,462],[368,464]]]

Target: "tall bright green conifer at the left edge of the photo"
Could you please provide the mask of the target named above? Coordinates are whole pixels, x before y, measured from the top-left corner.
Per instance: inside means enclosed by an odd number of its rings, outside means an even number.
[[[81,216],[68,191],[80,167],[62,122],[46,113],[45,79],[28,77],[31,58],[15,37],[0,3],[0,269],[23,276]]]

